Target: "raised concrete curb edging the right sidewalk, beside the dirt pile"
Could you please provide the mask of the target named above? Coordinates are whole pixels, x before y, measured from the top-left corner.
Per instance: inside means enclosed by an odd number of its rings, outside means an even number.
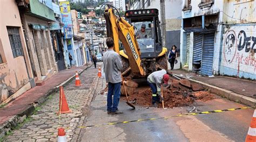
[[[189,80],[189,81],[194,82],[194,83],[199,83],[204,88],[208,89],[211,93],[214,93],[214,94],[219,95],[221,97],[225,97],[228,100],[231,100],[231,101],[234,101],[234,102],[239,102],[239,103],[242,103],[242,104],[245,104],[245,105],[248,105],[248,106],[255,106],[256,105],[256,100],[254,98],[234,93],[231,90],[227,90],[227,89],[223,89],[223,88],[220,88],[220,87],[212,86],[210,84],[207,84],[207,83],[204,83],[204,82],[201,82],[201,81],[188,79],[188,78],[186,78],[184,76],[180,76],[178,74],[174,74],[174,75],[179,76],[181,79],[186,79],[186,80]]]

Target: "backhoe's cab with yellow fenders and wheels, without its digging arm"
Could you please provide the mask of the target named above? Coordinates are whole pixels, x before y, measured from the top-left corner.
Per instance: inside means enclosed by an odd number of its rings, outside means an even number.
[[[158,67],[167,69],[166,52],[167,48],[163,48],[161,39],[160,22],[157,9],[128,10],[125,12],[125,20],[134,26],[135,37],[140,49],[140,58],[144,66],[146,75],[156,71]],[[145,26],[143,36],[139,36],[142,25]],[[124,69],[128,68],[128,59],[125,49],[120,51],[122,56]],[[128,62],[128,60],[126,60]],[[159,66],[158,66],[159,65]]]

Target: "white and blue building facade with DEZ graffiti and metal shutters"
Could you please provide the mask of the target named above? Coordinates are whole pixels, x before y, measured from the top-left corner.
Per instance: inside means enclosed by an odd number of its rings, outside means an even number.
[[[181,65],[201,75],[256,79],[255,1],[183,1]]]

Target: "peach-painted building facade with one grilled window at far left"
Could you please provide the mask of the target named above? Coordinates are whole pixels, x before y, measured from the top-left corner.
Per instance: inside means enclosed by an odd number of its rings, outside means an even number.
[[[15,0],[0,9],[0,104],[8,103],[35,86],[21,17]],[[8,99],[9,98],[9,99]],[[9,100],[9,101],[8,101]]]

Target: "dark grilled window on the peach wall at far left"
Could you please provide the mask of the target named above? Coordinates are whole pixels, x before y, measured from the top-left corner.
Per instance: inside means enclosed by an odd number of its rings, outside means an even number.
[[[7,27],[7,31],[14,58],[23,56],[22,42],[21,37],[19,36],[19,27]]]

